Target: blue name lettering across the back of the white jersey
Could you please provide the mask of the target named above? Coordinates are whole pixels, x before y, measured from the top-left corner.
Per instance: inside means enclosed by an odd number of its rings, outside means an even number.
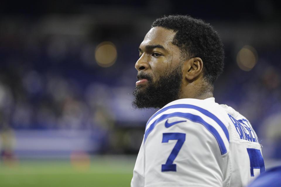
[[[255,133],[253,132],[253,129],[251,128],[248,120],[241,119],[236,120],[232,115],[228,114],[230,120],[235,126],[235,129],[240,136],[240,139],[251,141],[251,142],[258,142],[258,139],[256,138]],[[246,122],[246,123],[245,123]]]

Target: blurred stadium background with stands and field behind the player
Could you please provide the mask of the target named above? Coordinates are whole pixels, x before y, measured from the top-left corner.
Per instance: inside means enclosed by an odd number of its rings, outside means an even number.
[[[278,1],[4,1],[0,11],[0,186],[129,186],[155,112],[131,105],[134,64],[165,14],[219,32],[216,102],[250,120],[267,168],[281,165]]]

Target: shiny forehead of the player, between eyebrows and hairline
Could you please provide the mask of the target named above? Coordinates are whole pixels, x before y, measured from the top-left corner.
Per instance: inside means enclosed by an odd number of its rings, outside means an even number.
[[[175,34],[176,32],[174,32],[173,30],[165,29],[163,27],[153,27],[145,35],[140,46],[159,44],[167,48],[173,45],[172,41]]]

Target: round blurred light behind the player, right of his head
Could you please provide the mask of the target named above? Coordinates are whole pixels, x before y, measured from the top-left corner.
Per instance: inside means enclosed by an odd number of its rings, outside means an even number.
[[[241,70],[250,71],[258,61],[258,53],[255,48],[245,45],[237,54],[237,65]]]

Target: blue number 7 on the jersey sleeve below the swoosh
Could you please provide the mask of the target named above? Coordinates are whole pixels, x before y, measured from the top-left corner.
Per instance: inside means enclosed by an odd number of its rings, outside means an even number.
[[[169,155],[166,164],[162,164],[162,172],[176,172],[177,165],[173,164],[175,158],[177,157],[179,150],[181,149],[182,145],[185,141],[185,134],[184,133],[163,133],[162,143],[167,143],[169,140],[178,140],[176,145],[174,146],[171,154]]]

